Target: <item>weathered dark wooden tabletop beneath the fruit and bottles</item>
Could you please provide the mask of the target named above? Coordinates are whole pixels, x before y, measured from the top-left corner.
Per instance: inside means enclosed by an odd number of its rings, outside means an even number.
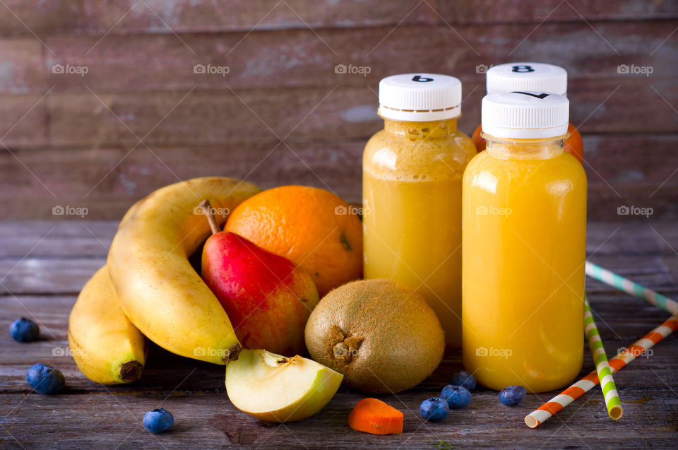
[[[496,392],[477,389],[465,410],[434,424],[420,418],[420,402],[435,395],[456,370],[448,354],[432,377],[398,396],[381,396],[405,413],[403,434],[378,437],[351,430],[347,415],[364,397],[340,389],[320,413],[302,422],[269,424],[240,413],[228,400],[224,368],[153,347],[143,378],[125,386],[100,386],[78,372],[68,355],[66,328],[78,290],[102,266],[117,223],[0,223],[0,447],[3,448],[222,448],[287,446],[326,448],[677,448],[678,347],[676,336],[659,343],[615,376],[624,418],[607,418],[600,389],[530,430],[523,417],[552,393],[528,395],[517,407]],[[590,223],[588,256],[665,295],[678,296],[678,227],[673,223]],[[608,354],[629,345],[669,314],[642,300],[587,280],[590,303]],[[42,325],[43,340],[21,344],[7,327],[20,316]],[[61,369],[66,389],[40,396],[25,382],[35,362]],[[585,350],[582,374],[593,369]],[[174,414],[171,432],[155,436],[143,414],[162,405]]]

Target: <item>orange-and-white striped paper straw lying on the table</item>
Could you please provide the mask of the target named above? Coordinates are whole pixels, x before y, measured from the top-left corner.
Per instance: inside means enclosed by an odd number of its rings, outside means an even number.
[[[653,348],[656,343],[661,341],[666,336],[669,336],[677,329],[678,313],[673,314],[663,324],[653,329],[653,331],[650,331],[650,333],[647,333],[642,338],[638,339],[638,341],[634,342],[631,346],[629,346],[629,348],[626,348],[626,350],[622,350],[617,353],[617,356],[613,357],[612,360],[609,360],[609,367],[612,368],[612,373],[622,369],[622,367],[635,360],[636,357],[642,355],[650,348]],[[537,410],[534,410],[532,413],[526,415],[525,425],[528,425],[530,428],[539,426],[551,418],[554,414],[558,413],[567,405],[575,401],[577,398],[583,396],[585,392],[590,391],[596,384],[598,384],[598,374],[594,370],[590,374],[583,377],[583,379],[577,381],[575,384],[565,389],[559,395],[547,401],[547,403],[540,406],[540,408]]]

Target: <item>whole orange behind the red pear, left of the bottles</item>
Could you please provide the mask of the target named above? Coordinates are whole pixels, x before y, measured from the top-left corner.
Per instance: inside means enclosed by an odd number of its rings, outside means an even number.
[[[262,191],[232,211],[224,230],[304,268],[321,297],[362,276],[362,223],[355,208],[324,189]]]

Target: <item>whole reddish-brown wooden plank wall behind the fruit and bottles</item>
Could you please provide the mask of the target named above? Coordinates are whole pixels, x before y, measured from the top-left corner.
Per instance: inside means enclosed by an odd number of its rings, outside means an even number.
[[[484,67],[522,59],[569,71],[589,217],[647,220],[618,215],[626,205],[673,220],[677,28],[678,2],[661,0],[6,0],[0,218],[81,220],[52,215],[67,205],[116,220],[153,189],[207,174],[360,201],[380,78],[457,76],[470,134]]]

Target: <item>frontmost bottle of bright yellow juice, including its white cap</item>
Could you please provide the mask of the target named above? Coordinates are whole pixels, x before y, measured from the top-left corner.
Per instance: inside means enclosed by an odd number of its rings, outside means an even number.
[[[463,184],[463,362],[483,386],[558,389],[583,359],[586,175],[564,153],[569,103],[482,100],[487,149]]]

